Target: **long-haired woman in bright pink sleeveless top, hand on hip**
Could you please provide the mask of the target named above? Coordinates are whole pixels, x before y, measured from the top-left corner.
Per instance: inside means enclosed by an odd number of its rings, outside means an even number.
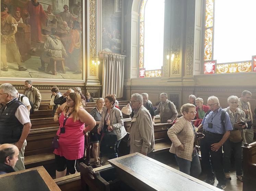
[[[92,130],[96,122],[82,107],[81,96],[78,93],[68,95],[66,103],[57,108],[54,121],[60,122],[60,128],[56,133],[59,147],[53,151],[56,178],[60,178],[66,175],[67,169],[70,174],[76,173],[76,160],[84,156],[84,134]]]

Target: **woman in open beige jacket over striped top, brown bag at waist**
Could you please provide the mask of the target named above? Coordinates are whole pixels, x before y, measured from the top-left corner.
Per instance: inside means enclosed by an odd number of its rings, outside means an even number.
[[[231,151],[233,150],[235,157],[235,170],[236,177],[238,180],[243,181],[243,170],[242,170],[242,136],[241,129],[246,128],[245,114],[242,109],[237,108],[239,99],[235,95],[231,95],[228,98],[228,107],[225,108],[230,116],[233,130],[230,131],[229,138],[223,144],[223,163],[225,177],[231,179],[230,176],[230,158]]]

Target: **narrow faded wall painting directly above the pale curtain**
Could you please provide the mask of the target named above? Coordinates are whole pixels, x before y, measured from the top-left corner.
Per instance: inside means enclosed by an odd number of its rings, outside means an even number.
[[[102,8],[101,50],[121,54],[122,0],[102,0]]]

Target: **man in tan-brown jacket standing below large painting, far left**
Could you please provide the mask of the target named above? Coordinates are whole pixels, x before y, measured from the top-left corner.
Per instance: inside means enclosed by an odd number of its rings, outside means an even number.
[[[38,110],[41,102],[41,93],[37,88],[32,86],[31,80],[25,81],[25,87],[23,94],[33,103],[34,110]]]

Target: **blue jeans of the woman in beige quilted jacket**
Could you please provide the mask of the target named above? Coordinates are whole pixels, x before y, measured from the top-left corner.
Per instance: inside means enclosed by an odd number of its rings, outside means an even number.
[[[180,167],[180,171],[197,178],[201,174],[201,165],[198,155],[192,158],[192,161],[182,159],[175,155],[175,159]]]

